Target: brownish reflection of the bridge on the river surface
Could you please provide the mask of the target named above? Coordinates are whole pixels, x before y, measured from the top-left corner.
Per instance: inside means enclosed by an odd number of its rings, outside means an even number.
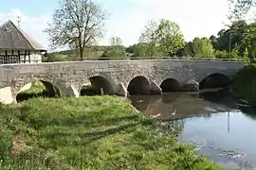
[[[165,93],[162,96],[137,95],[131,96],[130,99],[137,110],[142,111],[144,115],[160,114],[157,119],[161,121],[198,115],[209,118],[214,112],[231,110],[227,105],[209,102],[197,92]]]

